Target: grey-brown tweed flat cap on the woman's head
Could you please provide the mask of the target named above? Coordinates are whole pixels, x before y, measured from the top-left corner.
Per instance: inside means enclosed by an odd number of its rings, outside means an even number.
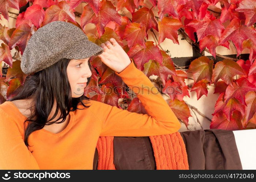
[[[31,74],[62,58],[85,59],[100,55],[103,51],[102,47],[88,40],[79,27],[65,21],[53,21],[30,37],[20,67],[25,74]]]

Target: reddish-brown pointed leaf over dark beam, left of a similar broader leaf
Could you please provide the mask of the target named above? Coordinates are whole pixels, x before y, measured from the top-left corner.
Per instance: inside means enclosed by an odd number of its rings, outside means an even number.
[[[188,72],[193,74],[194,83],[202,79],[206,79],[208,82],[212,83],[212,70],[213,60],[210,60],[206,56],[201,56],[191,62]]]

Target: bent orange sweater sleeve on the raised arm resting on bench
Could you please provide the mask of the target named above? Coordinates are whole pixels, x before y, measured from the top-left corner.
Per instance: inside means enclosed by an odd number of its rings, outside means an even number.
[[[92,111],[102,123],[100,136],[144,137],[177,132],[181,124],[150,79],[133,61],[120,73],[125,84],[137,95],[148,114],[139,114],[97,102]]]

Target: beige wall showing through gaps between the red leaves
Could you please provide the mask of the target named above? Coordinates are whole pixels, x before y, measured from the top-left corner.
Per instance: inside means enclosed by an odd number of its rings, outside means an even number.
[[[114,2],[114,1],[112,1],[112,2]],[[87,3],[81,3],[78,7],[76,7],[75,10],[82,13],[83,6],[86,5],[86,4]],[[147,6],[149,8],[152,6],[151,3],[148,0],[145,1],[145,4],[147,4]],[[13,8],[10,8],[9,11],[14,12],[14,13],[19,13],[18,10],[13,9]],[[153,9],[153,11],[154,11],[155,15],[157,15],[158,8],[155,7]],[[118,13],[125,13],[125,14],[127,14],[127,16],[129,18],[131,18],[131,13],[129,13],[125,8],[118,11]],[[9,28],[15,27],[16,19],[14,19],[12,17],[16,17],[16,15],[9,13],[9,16],[11,16],[9,22],[7,20],[5,20],[2,15],[0,15],[0,16],[1,16],[1,19],[2,19],[2,20],[0,20],[1,25],[8,26]],[[80,24],[80,19],[79,18],[76,18],[76,21]],[[95,32],[95,31],[96,31],[96,27],[95,27],[94,24],[90,23],[90,24],[86,25],[86,29],[85,29],[86,34],[89,33],[89,32]],[[157,31],[154,31],[154,32],[156,33],[157,37],[159,37],[159,34],[157,33]],[[162,48],[165,51],[167,49],[170,51],[170,54],[172,55],[172,58],[192,56],[192,47],[191,47],[191,45],[189,45],[186,40],[181,40],[181,36],[178,37],[178,40],[179,40],[180,45],[174,44],[173,41],[170,40],[170,39],[165,39],[160,45],[162,46]],[[153,37],[153,33],[150,32],[150,31],[148,31],[148,41],[155,41],[154,37]],[[1,41],[0,43],[2,43],[2,42],[3,41]],[[125,41],[124,41],[124,43],[125,43]],[[12,50],[12,55],[14,54],[14,52],[15,51]],[[232,43],[230,43],[230,50],[228,50],[225,47],[218,46],[217,49],[216,49],[216,52],[218,54],[221,54],[221,55],[236,54],[235,48],[234,48]],[[249,53],[249,51],[246,49],[242,53]],[[205,52],[205,55],[208,56],[208,55],[211,55],[211,54]],[[192,78],[191,74],[188,74],[188,76],[190,78]],[[155,76],[155,75],[150,76],[150,78],[156,78],[156,77],[157,76]],[[193,80],[190,80],[190,79],[186,79],[185,81],[186,81],[186,84],[192,84],[193,83]],[[184,100],[186,102],[188,102],[189,104],[195,106],[200,112],[202,112],[204,115],[206,115],[208,118],[211,119],[212,118],[211,114],[214,112],[214,104],[215,104],[215,102],[216,102],[216,100],[219,96],[219,94],[213,94],[213,92],[214,92],[214,86],[211,85],[209,87],[209,90],[208,90],[208,97],[203,95],[202,98],[197,100],[196,93],[191,92],[190,93],[190,98],[185,96]],[[163,97],[167,101],[169,101],[169,98],[167,96],[163,96]],[[121,99],[119,101],[121,101]],[[201,129],[201,126],[202,126],[203,129],[208,129],[210,127],[210,121],[208,121],[203,116],[196,113],[196,115],[197,115],[197,117],[200,121],[200,123],[198,123],[197,119],[195,117],[195,114],[192,111],[191,111],[191,115],[193,117],[189,118],[189,126],[188,126],[189,130]],[[187,131],[187,128],[185,127],[185,125],[183,123],[182,123],[182,127],[181,127],[180,131]]]

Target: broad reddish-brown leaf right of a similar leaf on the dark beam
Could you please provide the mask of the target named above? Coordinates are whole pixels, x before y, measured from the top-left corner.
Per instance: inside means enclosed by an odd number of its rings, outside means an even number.
[[[244,70],[233,60],[223,59],[215,64],[212,74],[212,81],[216,83],[222,79],[226,84],[233,82],[233,76],[245,75]]]

